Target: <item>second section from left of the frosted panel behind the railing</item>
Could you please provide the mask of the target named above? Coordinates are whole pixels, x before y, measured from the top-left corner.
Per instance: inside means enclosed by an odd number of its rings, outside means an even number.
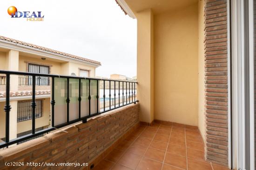
[[[79,118],[79,79],[69,79],[69,121]]]

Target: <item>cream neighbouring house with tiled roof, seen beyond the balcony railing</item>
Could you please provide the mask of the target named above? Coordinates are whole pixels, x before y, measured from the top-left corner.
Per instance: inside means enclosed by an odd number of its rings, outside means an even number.
[[[100,62],[0,36],[0,70],[94,77]],[[10,78],[10,139],[31,133],[32,77]],[[36,77],[36,130],[50,125],[51,79]],[[5,129],[6,77],[0,75],[0,129]],[[0,139],[4,140],[4,131]]]

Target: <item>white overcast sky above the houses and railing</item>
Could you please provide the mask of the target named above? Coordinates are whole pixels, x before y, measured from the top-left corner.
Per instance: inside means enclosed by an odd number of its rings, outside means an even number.
[[[13,19],[7,9],[42,11],[42,22]],[[96,76],[136,75],[137,21],[115,0],[0,0],[0,35],[100,61]]]

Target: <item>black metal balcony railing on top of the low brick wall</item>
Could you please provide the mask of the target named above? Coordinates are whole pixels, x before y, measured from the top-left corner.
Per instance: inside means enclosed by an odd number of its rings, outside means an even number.
[[[136,104],[136,102],[138,102],[138,100],[136,100],[136,94],[135,94],[135,85],[137,84],[137,82],[134,82],[134,81],[125,81],[125,80],[113,80],[113,79],[100,79],[100,78],[84,78],[84,77],[74,77],[74,76],[64,76],[64,75],[55,75],[55,74],[42,74],[42,73],[32,73],[32,72],[13,72],[13,71],[3,71],[3,70],[0,70],[0,74],[5,74],[6,75],[6,105],[5,105],[5,112],[6,112],[6,129],[5,129],[5,142],[4,143],[0,143],[0,148],[4,148],[4,147],[8,147],[9,145],[12,145],[12,144],[17,144],[17,143],[20,143],[22,141],[25,141],[25,140],[28,140],[28,139],[31,139],[31,138],[34,138],[34,137],[38,137],[40,135],[43,135],[49,131],[54,131],[56,130],[56,128],[61,128],[61,127],[64,127],[64,126],[67,126],[67,125],[70,125],[70,124],[74,124],[76,122],[79,122],[79,121],[82,121],[83,123],[86,123],[87,122],[87,119],[88,118],[91,118],[91,117],[94,117],[94,116],[97,116],[97,115],[100,115],[101,113],[104,113],[104,112],[107,112],[107,111],[111,111],[111,110],[114,110],[114,109],[117,109],[117,108],[120,108],[122,106],[125,106],[125,105],[129,105],[129,104]],[[11,111],[11,105],[10,105],[10,75],[19,75],[19,76],[29,76],[29,77],[32,77],[32,102],[31,102],[31,109],[32,109],[32,133],[30,134],[27,134],[25,136],[22,136],[22,137],[17,137],[15,139],[11,139],[10,140],[10,111]],[[51,127],[49,128],[46,128],[46,129],[43,129],[41,131],[35,131],[35,118],[36,118],[36,100],[35,100],[35,86],[36,86],[36,77],[47,77],[47,78],[51,78]],[[59,78],[59,79],[58,79]],[[57,80],[60,80],[60,78],[64,78],[65,79],[65,87],[67,87],[65,89],[65,98],[66,98],[66,105],[67,105],[67,115],[66,115],[66,122],[65,123],[61,123],[61,124],[55,124],[55,121],[54,121],[54,107],[55,105],[57,104],[57,102],[59,102],[58,100],[55,100],[58,99],[58,98],[63,98],[63,96],[61,96],[61,94],[57,93],[57,94],[54,94],[54,90],[55,90],[55,87],[57,85],[54,86],[54,84],[56,83]],[[73,85],[70,85],[69,82],[70,80],[73,81],[74,79],[78,79],[77,82],[79,82],[79,90],[78,90],[78,95],[77,97],[75,97],[75,101],[78,102],[78,109],[77,111],[79,112],[79,116],[78,118],[75,118],[75,119],[70,119],[70,105],[71,105],[71,100],[74,100],[74,96],[73,95],[73,92],[69,92],[70,90],[72,91],[72,88],[73,88]],[[56,81],[55,81],[56,80]],[[88,80],[88,89],[87,89],[87,94],[88,94],[88,97],[87,97],[87,100],[83,100],[83,102],[88,102],[88,115],[87,116],[81,116],[84,111],[81,110],[81,102],[82,102],[82,97],[84,98],[84,96],[81,96],[81,94],[83,94],[81,92],[82,90],[82,81],[87,81]],[[96,81],[96,95],[94,94],[94,101],[96,101],[96,105],[97,105],[97,109],[95,110],[95,112],[92,112],[92,108],[91,108],[91,100],[92,100],[92,92],[91,92],[91,83],[95,83]],[[99,95],[99,92],[100,92],[100,88],[99,88],[99,82],[103,82],[103,108],[100,108],[100,95]],[[106,94],[105,94],[105,85],[106,85],[106,82],[109,82],[109,98],[106,99]],[[111,83],[116,85],[118,83],[118,98],[115,98],[116,96],[116,92],[114,94],[114,100],[111,98]],[[128,85],[127,85],[128,84]],[[126,89],[125,89],[125,93],[124,93],[124,85],[126,85]],[[130,85],[131,87],[134,89],[131,89],[131,93],[128,93],[130,91]],[[69,88],[70,86],[70,88]],[[122,89],[120,88],[122,86]],[[116,87],[114,87],[114,90]],[[127,90],[127,88],[129,88]],[[122,96],[121,96],[121,93],[120,91],[122,90]],[[76,90],[74,92],[77,92]],[[69,94],[71,94],[71,96],[69,96]],[[124,94],[126,94],[124,96]],[[128,96],[129,94],[129,96]],[[120,99],[122,98],[122,100]],[[124,100],[125,98],[125,100]],[[107,106],[106,105],[106,100],[109,100],[109,105]],[[112,101],[112,103],[111,103]],[[113,101],[114,101],[114,104],[113,104]],[[118,102],[116,102],[118,101]],[[121,102],[122,101],[122,102]],[[72,107],[74,107],[74,105],[72,104],[71,105]],[[108,108],[107,108],[108,107]],[[84,115],[84,114],[83,114]],[[59,119],[59,118],[58,118]]]

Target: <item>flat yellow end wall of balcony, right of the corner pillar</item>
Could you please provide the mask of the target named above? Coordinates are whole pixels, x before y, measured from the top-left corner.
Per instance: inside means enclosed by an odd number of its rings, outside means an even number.
[[[154,51],[155,119],[197,126],[197,3],[154,16]]]

